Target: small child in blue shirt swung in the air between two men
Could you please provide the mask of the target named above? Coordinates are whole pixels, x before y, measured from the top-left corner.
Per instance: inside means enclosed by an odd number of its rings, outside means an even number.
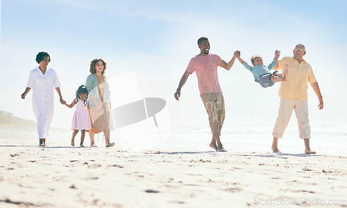
[[[278,71],[275,71],[274,73],[270,73],[270,70],[275,67],[276,63],[278,62],[278,58],[280,57],[280,51],[275,51],[275,58],[273,58],[273,62],[269,64],[269,66],[265,66],[262,61],[261,55],[253,55],[251,58],[251,62],[253,64],[253,67],[247,64],[242,58],[240,58],[240,52],[237,51],[236,58],[241,62],[246,69],[251,71],[254,76],[255,82],[262,85],[262,87],[271,87],[275,83],[278,82],[288,82],[288,69],[289,65],[285,64],[285,67],[283,69],[283,73],[278,73]]]

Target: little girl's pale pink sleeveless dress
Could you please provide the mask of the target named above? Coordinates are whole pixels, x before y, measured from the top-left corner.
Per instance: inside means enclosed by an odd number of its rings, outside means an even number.
[[[77,98],[76,110],[74,117],[72,118],[71,129],[73,130],[90,130],[92,129],[92,125],[90,124],[90,116],[87,109],[87,103],[89,99],[87,98],[84,101],[81,101]],[[86,105],[85,105],[86,104]]]

